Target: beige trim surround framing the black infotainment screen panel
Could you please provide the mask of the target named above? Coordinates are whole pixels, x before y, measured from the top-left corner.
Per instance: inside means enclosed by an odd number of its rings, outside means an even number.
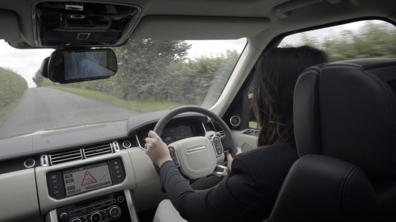
[[[125,181],[121,184],[116,184],[114,186],[109,186],[105,188],[101,188],[92,192],[71,196],[65,199],[53,199],[48,194],[47,182],[46,182],[46,173],[53,170],[58,170],[67,167],[73,167],[80,164],[89,164],[91,162],[107,160],[111,158],[121,157],[124,162],[126,178]],[[132,168],[131,159],[129,158],[129,154],[126,150],[121,150],[120,152],[115,152],[112,154],[107,154],[103,156],[97,156],[89,159],[84,160],[77,160],[65,164],[59,164],[55,166],[48,166],[48,167],[36,167],[36,183],[37,183],[37,192],[38,192],[38,199],[40,202],[40,209],[42,214],[46,214],[49,211],[56,209],[58,207],[62,207],[65,205],[69,205],[71,203],[76,203],[79,201],[84,201],[89,198],[94,198],[97,196],[109,194],[112,192],[120,191],[120,190],[127,190],[127,189],[135,189],[136,188],[136,179],[135,173]]]

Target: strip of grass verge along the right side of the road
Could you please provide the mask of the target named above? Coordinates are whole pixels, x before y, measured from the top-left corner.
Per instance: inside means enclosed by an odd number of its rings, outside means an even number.
[[[65,92],[76,94],[78,96],[83,96],[91,100],[103,102],[136,113],[149,113],[154,111],[173,109],[183,105],[181,103],[175,103],[175,102],[122,100],[116,98],[115,96],[110,96],[109,94],[105,94],[103,92],[98,92],[84,88],[54,87],[54,86],[43,86],[43,87],[62,90]]]

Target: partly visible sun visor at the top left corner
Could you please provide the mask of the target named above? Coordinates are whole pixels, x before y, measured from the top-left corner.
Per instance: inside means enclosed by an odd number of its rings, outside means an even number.
[[[11,11],[0,10],[0,39],[5,41],[21,40],[17,16]]]

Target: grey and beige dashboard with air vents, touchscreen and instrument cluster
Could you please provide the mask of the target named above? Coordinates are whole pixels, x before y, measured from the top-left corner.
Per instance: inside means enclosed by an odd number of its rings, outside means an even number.
[[[53,222],[91,218],[117,222],[152,209],[166,196],[141,145],[165,114],[148,113],[0,140],[0,147],[13,148],[4,149],[0,156],[0,199],[8,200],[0,209],[2,218],[17,221],[46,215],[46,221]],[[161,138],[170,144],[214,131],[207,117],[187,113],[171,119]],[[218,161],[223,162],[224,157]],[[194,184],[206,189],[207,184],[219,182],[216,179],[204,178],[210,182]],[[24,190],[23,198],[15,190]]]

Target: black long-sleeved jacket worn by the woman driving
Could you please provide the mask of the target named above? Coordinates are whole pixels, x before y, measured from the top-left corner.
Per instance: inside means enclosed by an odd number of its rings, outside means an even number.
[[[259,147],[232,161],[232,177],[195,192],[172,161],[161,166],[160,181],[173,206],[188,222],[263,221],[268,218],[291,165],[299,158],[289,143]]]

